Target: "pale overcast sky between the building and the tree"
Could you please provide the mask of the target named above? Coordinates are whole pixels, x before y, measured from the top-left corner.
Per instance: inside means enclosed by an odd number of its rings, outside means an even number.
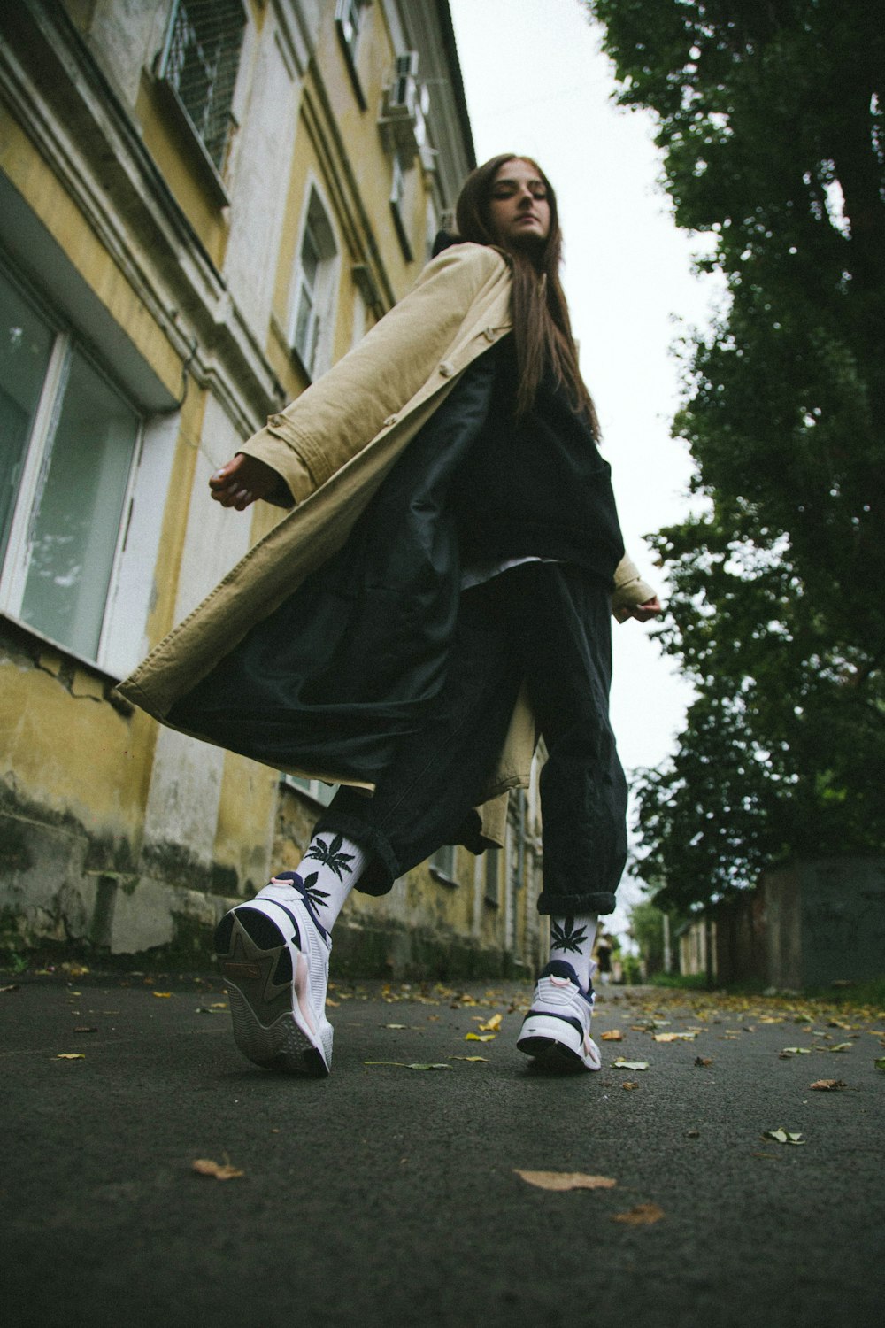
[[[670,438],[671,347],[681,327],[707,323],[715,297],[714,283],[691,274],[699,240],[671,220],[650,117],[612,101],[612,66],[580,0],[450,5],[476,159],[525,153],[556,189],[565,292],[625,542],[659,584],[642,537],[687,510],[690,458]],[[612,718],[628,773],[673,750],[689,699],[646,627],[614,627]]]

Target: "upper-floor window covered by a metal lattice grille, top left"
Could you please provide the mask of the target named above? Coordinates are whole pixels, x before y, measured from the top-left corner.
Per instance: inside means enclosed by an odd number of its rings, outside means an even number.
[[[159,78],[174,92],[219,173],[234,124],[244,27],[240,0],[174,0],[159,60]]]

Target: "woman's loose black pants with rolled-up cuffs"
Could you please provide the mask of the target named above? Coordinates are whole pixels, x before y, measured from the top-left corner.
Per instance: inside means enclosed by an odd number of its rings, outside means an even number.
[[[523,679],[541,770],[543,914],[612,912],[626,862],[626,781],[608,717],[610,603],[579,567],[523,563],[464,591],[446,683],[368,798],[342,788],[316,831],[368,850],[360,890],[458,842],[495,772]]]

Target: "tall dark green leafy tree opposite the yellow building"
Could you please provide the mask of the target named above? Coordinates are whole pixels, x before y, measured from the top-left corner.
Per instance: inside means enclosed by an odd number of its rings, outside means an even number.
[[[686,344],[693,517],[653,543],[697,687],[640,781],[667,904],[885,841],[885,24],[866,0],[588,0],[727,305]]]

